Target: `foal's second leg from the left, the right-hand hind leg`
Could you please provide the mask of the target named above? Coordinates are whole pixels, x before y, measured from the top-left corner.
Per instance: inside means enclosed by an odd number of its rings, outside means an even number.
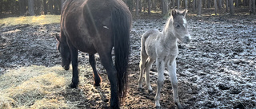
[[[146,81],[146,87],[149,93],[153,91],[150,85],[150,68],[152,67],[153,63],[154,63],[154,59],[149,57],[145,65],[146,66],[145,81]]]

